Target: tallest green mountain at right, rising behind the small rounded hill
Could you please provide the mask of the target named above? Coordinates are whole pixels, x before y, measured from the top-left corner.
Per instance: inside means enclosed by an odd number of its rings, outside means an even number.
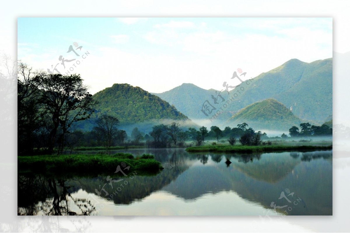
[[[322,123],[332,114],[332,58],[312,63],[292,59],[253,83],[239,96],[237,108],[273,98],[301,119]]]

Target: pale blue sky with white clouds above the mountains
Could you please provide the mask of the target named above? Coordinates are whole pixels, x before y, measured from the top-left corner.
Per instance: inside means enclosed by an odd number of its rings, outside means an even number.
[[[332,57],[332,23],[331,17],[19,17],[18,60],[78,73],[92,94],[114,83],[152,93],[182,83],[219,90],[224,81],[239,84],[230,80],[239,68],[248,79],[293,58]]]

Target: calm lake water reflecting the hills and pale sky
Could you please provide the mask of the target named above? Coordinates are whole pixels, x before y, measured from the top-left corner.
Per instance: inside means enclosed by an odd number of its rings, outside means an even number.
[[[19,175],[18,213],[261,215],[261,218],[282,213],[332,215],[332,151],[224,154],[135,149],[118,152],[134,156],[153,154],[165,169],[153,176],[128,173],[127,177],[117,177],[114,170],[97,177]],[[226,158],[232,162],[230,165],[226,165]]]

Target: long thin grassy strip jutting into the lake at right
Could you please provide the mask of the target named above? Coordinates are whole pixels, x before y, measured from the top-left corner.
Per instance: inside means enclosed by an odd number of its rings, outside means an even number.
[[[283,151],[315,151],[315,150],[331,150],[332,145],[328,146],[287,146],[287,145],[265,145],[265,146],[229,146],[229,145],[215,145],[215,146],[195,146],[188,147],[188,152],[283,152]]]

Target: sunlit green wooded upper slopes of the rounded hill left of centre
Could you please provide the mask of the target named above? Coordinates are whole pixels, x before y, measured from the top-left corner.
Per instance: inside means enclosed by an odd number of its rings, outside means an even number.
[[[188,119],[158,96],[129,84],[114,84],[94,94],[93,98],[99,102],[96,105],[97,116],[108,114],[117,117],[121,124],[155,119]]]

